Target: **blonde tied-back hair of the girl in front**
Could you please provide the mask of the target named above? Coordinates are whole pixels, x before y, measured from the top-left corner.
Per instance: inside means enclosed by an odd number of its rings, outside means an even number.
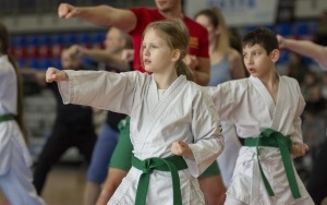
[[[160,35],[160,37],[167,41],[168,46],[171,49],[180,50],[180,59],[175,63],[177,74],[178,76],[183,74],[189,81],[193,81],[193,75],[189,67],[183,61],[183,59],[187,55],[190,41],[190,34],[185,24],[178,19],[153,22],[148,24],[143,32],[142,40],[144,39],[144,35],[146,34],[146,32],[148,32],[149,29],[158,32],[158,35]],[[140,53],[142,58],[142,48]]]

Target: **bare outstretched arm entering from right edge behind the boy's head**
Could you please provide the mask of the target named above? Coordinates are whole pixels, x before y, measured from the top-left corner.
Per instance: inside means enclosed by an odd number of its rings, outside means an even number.
[[[327,49],[310,40],[295,40],[277,35],[279,48],[289,49],[299,55],[314,59],[323,68],[327,69]]]

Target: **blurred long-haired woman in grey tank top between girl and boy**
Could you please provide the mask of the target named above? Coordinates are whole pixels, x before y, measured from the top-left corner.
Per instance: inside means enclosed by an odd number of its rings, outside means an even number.
[[[195,15],[195,21],[206,27],[209,33],[209,55],[211,62],[209,86],[217,86],[227,81],[245,77],[242,56],[238,50],[230,47],[230,31],[225,23],[219,8],[199,11]],[[239,46],[241,47],[241,44]],[[226,136],[225,149],[217,161],[221,170],[223,183],[228,186],[233,174],[241,143],[238,138],[234,124],[221,121],[221,126],[222,134]],[[217,185],[209,181],[208,184],[211,186]],[[209,185],[206,188],[210,189]],[[222,191],[225,193],[226,189],[222,189]]]

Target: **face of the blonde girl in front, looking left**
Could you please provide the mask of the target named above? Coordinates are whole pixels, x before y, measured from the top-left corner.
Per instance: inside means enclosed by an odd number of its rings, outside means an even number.
[[[147,72],[162,73],[174,69],[172,61],[172,49],[161,37],[162,34],[155,29],[148,29],[142,43],[142,62]]]

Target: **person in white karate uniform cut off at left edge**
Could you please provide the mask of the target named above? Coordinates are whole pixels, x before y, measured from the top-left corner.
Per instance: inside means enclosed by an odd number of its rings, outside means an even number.
[[[45,204],[32,184],[20,74],[8,50],[9,34],[0,23],[0,188],[12,205]]]

